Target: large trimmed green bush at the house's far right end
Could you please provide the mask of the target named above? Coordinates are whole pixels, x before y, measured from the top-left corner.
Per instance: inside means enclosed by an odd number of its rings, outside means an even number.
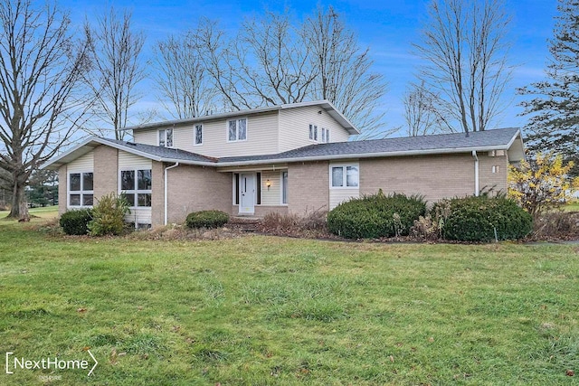
[[[532,216],[504,197],[454,198],[446,202],[450,213],[443,221],[442,236],[447,240],[495,240],[495,230],[498,240],[518,240],[533,230]]]

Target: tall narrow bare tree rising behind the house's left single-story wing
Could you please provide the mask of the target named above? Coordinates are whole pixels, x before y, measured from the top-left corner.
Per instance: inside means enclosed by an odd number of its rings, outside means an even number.
[[[95,112],[100,121],[112,126],[117,139],[123,139],[129,109],[138,101],[136,85],[145,78],[140,53],[143,33],[133,31],[131,14],[119,15],[113,7],[97,19],[96,26],[85,24],[90,44],[91,69],[86,83],[95,96]],[[102,133],[101,128],[95,128]]]

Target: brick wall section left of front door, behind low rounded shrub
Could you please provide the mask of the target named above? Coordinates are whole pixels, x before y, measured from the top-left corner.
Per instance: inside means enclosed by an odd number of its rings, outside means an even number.
[[[169,222],[183,222],[190,212],[232,209],[230,173],[216,172],[212,167],[179,165],[168,171],[167,179]]]

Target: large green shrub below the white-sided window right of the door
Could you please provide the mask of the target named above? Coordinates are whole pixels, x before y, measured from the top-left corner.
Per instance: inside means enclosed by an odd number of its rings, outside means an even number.
[[[375,239],[407,235],[426,212],[420,196],[404,194],[373,195],[342,202],[327,213],[327,228],[346,239]]]

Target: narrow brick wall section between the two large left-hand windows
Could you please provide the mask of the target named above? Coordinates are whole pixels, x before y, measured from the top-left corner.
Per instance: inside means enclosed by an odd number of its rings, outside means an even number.
[[[119,193],[119,150],[104,145],[96,147],[93,175],[96,200],[109,193]]]

